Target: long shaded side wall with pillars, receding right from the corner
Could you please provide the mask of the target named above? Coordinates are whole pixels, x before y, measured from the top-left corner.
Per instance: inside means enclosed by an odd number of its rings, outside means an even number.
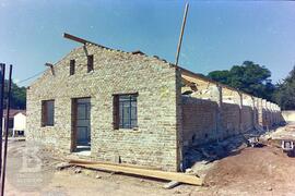
[[[268,130],[282,122],[280,107],[274,103],[198,75],[193,77],[191,73],[182,74],[187,84],[182,91],[192,91],[182,97],[182,134],[187,145],[224,139],[259,126]]]

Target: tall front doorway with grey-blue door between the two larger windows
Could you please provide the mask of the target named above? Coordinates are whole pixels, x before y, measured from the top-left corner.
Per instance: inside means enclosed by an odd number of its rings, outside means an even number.
[[[72,151],[91,149],[91,98],[72,99]]]

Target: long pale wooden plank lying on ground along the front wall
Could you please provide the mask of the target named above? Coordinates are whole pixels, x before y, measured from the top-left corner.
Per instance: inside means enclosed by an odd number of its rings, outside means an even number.
[[[109,163],[87,164],[87,163],[74,163],[74,161],[70,161],[70,163],[79,166],[79,167],[83,167],[83,168],[105,170],[105,171],[111,171],[111,172],[121,172],[121,173],[127,173],[127,174],[162,179],[162,180],[167,180],[167,181],[177,181],[177,182],[192,184],[192,185],[202,185],[203,183],[200,177],[194,176],[194,175],[189,175],[186,173],[148,170],[148,169],[141,169],[141,168],[115,166],[115,164],[109,164]]]

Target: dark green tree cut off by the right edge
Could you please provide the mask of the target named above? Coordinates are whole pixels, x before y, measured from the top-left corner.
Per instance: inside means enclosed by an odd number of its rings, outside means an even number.
[[[283,83],[276,85],[274,100],[283,110],[295,109],[295,66]]]

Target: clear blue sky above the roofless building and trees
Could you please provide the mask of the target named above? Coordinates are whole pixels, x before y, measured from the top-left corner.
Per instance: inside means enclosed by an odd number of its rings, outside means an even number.
[[[181,66],[206,74],[250,60],[274,82],[292,70],[295,2],[189,2]],[[15,82],[35,75],[80,46],[64,32],[174,62],[184,7],[180,0],[0,0],[0,62],[14,65]]]

